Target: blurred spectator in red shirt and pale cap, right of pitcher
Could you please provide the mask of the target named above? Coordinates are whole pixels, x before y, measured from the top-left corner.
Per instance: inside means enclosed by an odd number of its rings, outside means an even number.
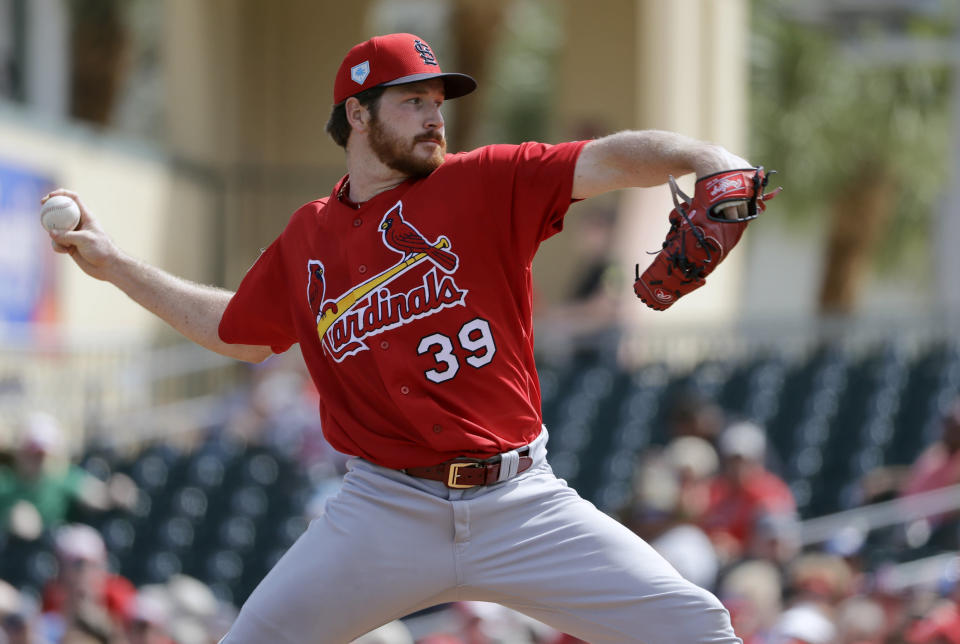
[[[764,466],[766,438],[750,422],[736,423],[720,435],[720,473],[710,482],[700,525],[710,535],[722,561],[732,561],[754,539],[757,521],[771,514],[793,514],[790,488]]]

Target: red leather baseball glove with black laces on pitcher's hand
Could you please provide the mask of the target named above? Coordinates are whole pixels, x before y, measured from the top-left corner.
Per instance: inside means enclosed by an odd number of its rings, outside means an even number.
[[[776,170],[771,170],[770,175]],[[674,209],[670,231],[656,259],[640,274],[633,290],[651,309],[663,311],[678,299],[700,288],[743,235],[747,222],[766,209],[766,201],[781,188],[764,194],[770,176],[763,167],[727,170],[697,180],[693,199],[670,177]],[[720,210],[744,203],[747,216],[727,219]]]

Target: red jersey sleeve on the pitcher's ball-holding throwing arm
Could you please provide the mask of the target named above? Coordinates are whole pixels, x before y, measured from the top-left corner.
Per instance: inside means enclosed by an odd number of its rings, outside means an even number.
[[[283,236],[247,271],[220,319],[220,339],[228,344],[269,346],[283,353],[297,342],[283,263]]]

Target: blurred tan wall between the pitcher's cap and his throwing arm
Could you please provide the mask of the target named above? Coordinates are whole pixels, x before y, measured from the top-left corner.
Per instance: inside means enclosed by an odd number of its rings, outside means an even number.
[[[214,252],[225,285],[342,175],[343,151],[323,128],[343,55],[370,35],[369,4],[168,2],[169,143],[223,183]]]

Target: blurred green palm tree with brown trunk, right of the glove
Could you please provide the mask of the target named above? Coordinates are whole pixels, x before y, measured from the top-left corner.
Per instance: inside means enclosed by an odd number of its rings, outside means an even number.
[[[952,21],[906,15],[891,40],[889,22],[807,22],[785,6],[754,3],[752,154],[781,171],[789,212],[828,217],[819,311],[850,314],[875,262],[902,266],[928,241],[947,178],[952,70],[893,45],[937,42]]]

